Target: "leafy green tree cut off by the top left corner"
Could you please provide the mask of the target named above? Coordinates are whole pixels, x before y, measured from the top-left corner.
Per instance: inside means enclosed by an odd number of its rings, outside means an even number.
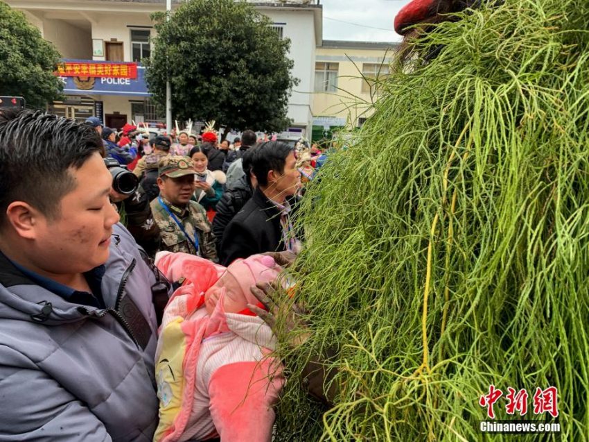
[[[45,108],[63,90],[53,75],[60,57],[22,12],[0,1],[0,95],[24,96],[28,108]]]

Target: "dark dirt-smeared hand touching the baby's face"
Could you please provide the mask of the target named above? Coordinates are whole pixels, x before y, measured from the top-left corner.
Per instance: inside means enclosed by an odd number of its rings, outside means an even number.
[[[304,312],[298,305],[290,303],[290,298],[285,298],[283,303],[276,303],[273,298],[276,298],[279,290],[276,290],[275,284],[258,283],[250,287],[252,294],[264,305],[266,310],[252,304],[248,304],[247,308],[260,316],[267,325],[270,325],[274,334],[278,336],[279,333],[283,333],[285,338],[288,337],[290,346],[300,346],[308,339],[310,334],[308,331],[294,334],[294,330],[307,329],[307,325],[302,318]],[[285,327],[278,327],[279,321],[277,319],[282,317],[285,318]]]

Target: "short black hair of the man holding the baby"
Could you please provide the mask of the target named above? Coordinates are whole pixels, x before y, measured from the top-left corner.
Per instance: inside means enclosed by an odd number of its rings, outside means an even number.
[[[76,188],[69,168],[80,169],[102,149],[89,124],[41,111],[0,112],[0,226],[14,201],[58,218],[61,199]]]

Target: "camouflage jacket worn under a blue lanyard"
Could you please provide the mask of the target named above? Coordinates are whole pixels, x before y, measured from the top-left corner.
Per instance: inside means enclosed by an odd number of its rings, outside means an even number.
[[[202,205],[189,201],[188,205],[181,209],[171,205],[165,198],[162,197],[161,199],[168,205],[170,211],[175,214],[178,221],[182,223],[189,237],[194,238],[196,232],[198,250],[195,250],[192,240],[186,238],[182,229],[179,228],[174,219],[159,203],[159,198],[155,198],[150,203],[150,206],[161,235],[160,250],[168,250],[174,253],[190,253],[191,255],[202,256],[207,260],[218,262],[215,235]]]

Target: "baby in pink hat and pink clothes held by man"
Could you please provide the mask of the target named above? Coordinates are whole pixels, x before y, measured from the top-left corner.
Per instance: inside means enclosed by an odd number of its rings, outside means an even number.
[[[282,270],[254,255],[225,268],[186,253],[160,253],[169,280],[184,280],[170,298],[156,352],[160,441],[272,440],[282,365],[270,328],[247,309],[249,291]]]

